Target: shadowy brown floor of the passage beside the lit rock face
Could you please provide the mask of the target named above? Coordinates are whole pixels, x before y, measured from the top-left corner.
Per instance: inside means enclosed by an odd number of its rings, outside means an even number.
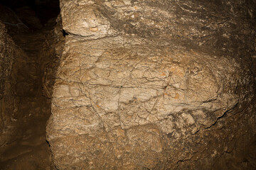
[[[18,75],[27,75],[29,86],[19,86],[16,125],[12,142],[0,147],[0,169],[52,169],[50,150],[46,142],[46,121],[50,116],[50,99],[42,95],[41,59],[39,52],[45,40],[45,30],[12,35],[26,59],[16,61],[27,67]],[[20,72],[20,71],[18,71]],[[24,89],[24,91],[23,91]],[[25,89],[29,89],[25,91]]]

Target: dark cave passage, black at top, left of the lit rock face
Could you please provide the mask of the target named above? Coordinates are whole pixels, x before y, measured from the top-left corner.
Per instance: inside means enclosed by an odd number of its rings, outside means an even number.
[[[0,169],[51,169],[46,141],[51,103],[43,91],[43,79],[55,58],[47,40],[56,25],[59,2],[0,1],[0,8],[0,21],[15,43],[8,42],[8,36],[4,41],[6,55],[14,55],[14,60],[9,63],[9,99],[2,99],[5,109],[1,109],[1,119],[8,127],[1,127]],[[1,35],[6,36],[3,32]],[[11,114],[10,120],[4,118],[5,112]]]

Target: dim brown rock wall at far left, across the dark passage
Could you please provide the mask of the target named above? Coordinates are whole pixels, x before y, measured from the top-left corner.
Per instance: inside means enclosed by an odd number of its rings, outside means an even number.
[[[26,58],[24,52],[16,47],[7,34],[4,23],[0,21],[0,146],[9,142],[16,127],[16,98],[15,86],[17,83],[16,65],[18,56]],[[14,67],[16,68],[14,69]]]

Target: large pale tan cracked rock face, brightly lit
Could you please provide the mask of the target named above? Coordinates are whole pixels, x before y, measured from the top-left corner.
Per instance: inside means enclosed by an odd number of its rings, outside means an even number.
[[[61,0],[68,35],[47,127],[55,166],[253,169],[254,10]]]

